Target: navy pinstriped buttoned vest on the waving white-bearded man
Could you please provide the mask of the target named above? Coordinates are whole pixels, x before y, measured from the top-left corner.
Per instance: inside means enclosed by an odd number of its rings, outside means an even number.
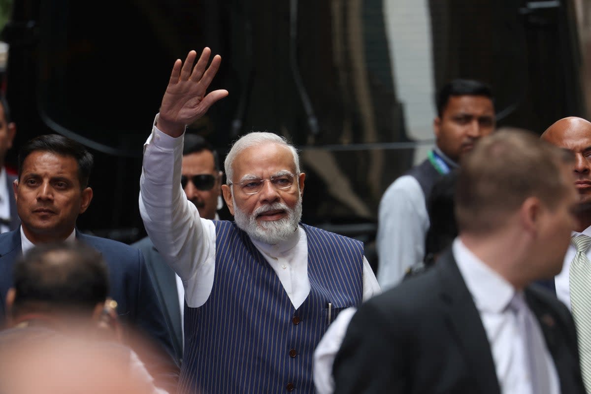
[[[310,294],[296,310],[236,224],[214,221],[216,265],[202,307],[185,305],[178,393],[314,393],[312,357],[340,310],[362,301],[363,244],[302,224]]]

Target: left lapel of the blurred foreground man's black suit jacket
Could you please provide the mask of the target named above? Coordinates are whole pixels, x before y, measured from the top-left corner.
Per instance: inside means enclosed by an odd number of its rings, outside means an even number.
[[[441,279],[440,295],[450,331],[466,357],[466,365],[471,370],[470,376],[476,380],[478,393],[501,394],[482,319],[451,250],[439,258],[435,268]]]

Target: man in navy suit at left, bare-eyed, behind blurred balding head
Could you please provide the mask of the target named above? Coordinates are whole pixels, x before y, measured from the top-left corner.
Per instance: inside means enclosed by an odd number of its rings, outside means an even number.
[[[160,386],[172,389],[178,366],[142,254],[124,243],[76,229],[77,217],[92,200],[92,188],[87,187],[92,164],[92,155],[83,145],[61,135],[41,135],[21,147],[14,194],[22,223],[19,229],[0,235],[1,317],[6,313],[12,269],[22,252],[41,243],[80,240],[99,250],[108,264],[110,296],[118,304],[126,338],[133,342],[129,344],[144,357]],[[147,350],[139,350],[140,343]]]

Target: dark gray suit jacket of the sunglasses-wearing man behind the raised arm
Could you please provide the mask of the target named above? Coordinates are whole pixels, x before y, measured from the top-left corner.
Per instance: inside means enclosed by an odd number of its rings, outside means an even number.
[[[181,325],[180,304],[178,304],[178,291],[176,274],[173,269],[164,262],[163,257],[154,248],[150,238],[145,237],[131,246],[141,250],[148,272],[152,277],[152,283],[160,305],[163,306],[164,318],[170,330],[173,340],[174,355],[180,364],[183,358],[183,331]]]

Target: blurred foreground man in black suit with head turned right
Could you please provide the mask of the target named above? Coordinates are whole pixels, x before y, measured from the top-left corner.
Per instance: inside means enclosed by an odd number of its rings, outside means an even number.
[[[457,179],[457,237],[433,268],[369,299],[333,373],[342,393],[584,393],[560,272],[574,225],[573,156],[498,131]]]

